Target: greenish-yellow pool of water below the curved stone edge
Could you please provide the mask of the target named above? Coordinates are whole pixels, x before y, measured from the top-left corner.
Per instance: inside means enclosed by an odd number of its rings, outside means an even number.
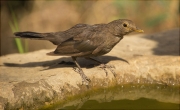
[[[96,88],[42,110],[64,109],[180,109],[180,87],[126,84]]]

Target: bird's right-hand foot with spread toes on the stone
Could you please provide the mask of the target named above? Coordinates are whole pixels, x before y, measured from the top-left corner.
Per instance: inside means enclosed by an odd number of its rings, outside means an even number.
[[[99,68],[102,68],[105,71],[106,76],[108,75],[108,72],[106,69],[109,69],[111,71],[111,73],[113,73],[114,77],[116,77],[116,73],[113,70],[115,68],[114,66],[106,65],[106,64],[100,64]]]

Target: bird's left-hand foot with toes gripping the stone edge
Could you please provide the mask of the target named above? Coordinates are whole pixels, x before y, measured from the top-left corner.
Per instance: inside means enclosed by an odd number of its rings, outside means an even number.
[[[82,78],[82,84],[89,85],[91,80],[84,74],[84,72],[79,68],[73,68],[75,72],[79,73]]]

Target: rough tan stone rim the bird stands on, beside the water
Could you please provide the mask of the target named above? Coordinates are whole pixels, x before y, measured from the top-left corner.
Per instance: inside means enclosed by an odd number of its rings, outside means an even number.
[[[80,75],[73,70],[76,66],[71,58],[47,56],[50,51],[53,50],[0,57],[0,109],[37,109],[87,91],[81,85]],[[109,87],[114,82],[179,86],[179,29],[125,36],[110,53],[96,59],[115,66],[117,77],[109,70],[106,77],[96,63],[78,59],[92,80],[88,90]],[[174,102],[179,103],[178,94],[176,97]]]

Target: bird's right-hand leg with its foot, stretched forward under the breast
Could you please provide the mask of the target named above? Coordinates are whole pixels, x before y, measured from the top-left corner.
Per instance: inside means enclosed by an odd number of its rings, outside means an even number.
[[[116,73],[112,69],[112,68],[114,68],[114,66],[106,65],[106,64],[104,64],[104,63],[102,63],[102,62],[100,62],[98,60],[95,60],[93,58],[90,58],[90,57],[87,57],[86,59],[89,59],[89,60],[92,60],[92,61],[95,61],[95,62],[99,63],[100,64],[100,68],[102,68],[105,71],[106,76],[108,75],[108,72],[107,72],[106,68],[108,68],[113,73],[114,77],[116,77]]]

